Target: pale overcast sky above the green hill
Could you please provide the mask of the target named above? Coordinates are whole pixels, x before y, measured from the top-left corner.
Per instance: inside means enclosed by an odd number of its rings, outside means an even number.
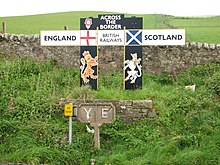
[[[66,11],[174,16],[220,15],[220,0],[2,0],[0,17]]]

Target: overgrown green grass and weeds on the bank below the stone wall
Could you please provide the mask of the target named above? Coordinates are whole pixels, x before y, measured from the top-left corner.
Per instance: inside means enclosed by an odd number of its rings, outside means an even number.
[[[143,90],[124,91],[122,73],[100,75],[100,89],[79,87],[79,70],[53,61],[0,56],[0,162],[32,164],[220,164],[220,64],[172,77],[144,73]],[[196,84],[196,91],[184,85]],[[60,98],[152,98],[159,116],[101,127],[101,149],[85,124],[68,118]]]

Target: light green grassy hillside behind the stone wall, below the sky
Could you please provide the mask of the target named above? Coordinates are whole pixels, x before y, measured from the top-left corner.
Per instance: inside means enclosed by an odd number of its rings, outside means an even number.
[[[7,23],[7,32],[14,34],[39,34],[41,30],[79,29],[80,18],[95,17],[106,12],[82,11],[41,14],[30,16],[3,17]],[[108,12],[109,13],[109,12]],[[126,17],[133,16],[125,14]],[[136,15],[143,17],[144,29],[179,28],[186,29],[186,38],[190,42],[220,43],[220,16],[194,18],[173,17],[159,14]]]

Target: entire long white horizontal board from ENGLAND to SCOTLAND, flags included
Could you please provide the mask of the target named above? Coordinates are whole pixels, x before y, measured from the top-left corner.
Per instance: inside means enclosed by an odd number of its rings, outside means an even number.
[[[41,31],[41,46],[185,45],[185,29]]]

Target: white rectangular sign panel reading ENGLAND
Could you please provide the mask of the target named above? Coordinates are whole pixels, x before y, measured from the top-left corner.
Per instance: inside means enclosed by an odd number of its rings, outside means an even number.
[[[41,46],[80,46],[79,30],[46,30],[40,32]]]

